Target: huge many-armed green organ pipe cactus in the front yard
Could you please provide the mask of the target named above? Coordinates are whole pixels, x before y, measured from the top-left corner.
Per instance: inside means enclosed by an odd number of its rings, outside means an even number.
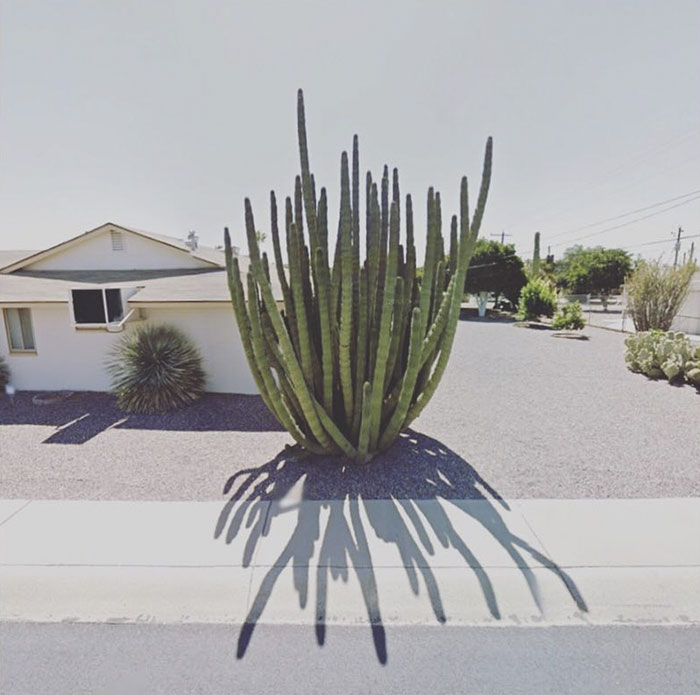
[[[378,182],[367,174],[362,257],[357,136],[351,158],[345,152],[341,157],[340,220],[331,256],[328,199],[325,188],[317,192],[310,170],[301,90],[297,118],[301,174],[293,199],[285,201],[287,264],[274,192],[274,269],[260,251],[246,199],[245,278],[225,230],[231,299],[255,383],[279,422],[311,453],[366,462],[418,417],[447,366],[489,190],[491,138],[472,217],[462,179],[447,264],[440,194],[428,191],[419,279],[411,196],[402,206],[396,169],[390,178],[384,167]]]

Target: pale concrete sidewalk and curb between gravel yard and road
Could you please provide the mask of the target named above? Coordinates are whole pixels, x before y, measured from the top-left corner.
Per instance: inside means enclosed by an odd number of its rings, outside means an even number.
[[[7,621],[700,623],[700,499],[0,502]]]

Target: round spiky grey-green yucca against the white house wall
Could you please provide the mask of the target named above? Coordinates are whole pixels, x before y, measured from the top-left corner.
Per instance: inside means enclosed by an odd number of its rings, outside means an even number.
[[[107,368],[117,403],[129,412],[164,413],[204,393],[199,352],[173,326],[146,324],[127,333]]]

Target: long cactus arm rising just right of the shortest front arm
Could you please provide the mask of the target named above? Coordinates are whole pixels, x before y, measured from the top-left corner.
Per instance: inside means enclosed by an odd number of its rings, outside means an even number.
[[[374,450],[379,440],[381,427],[382,401],[384,400],[384,386],[386,377],[387,360],[389,356],[389,344],[391,342],[391,319],[394,311],[394,291],[396,288],[396,264],[399,250],[399,221],[398,210],[394,203],[391,207],[389,256],[386,262],[387,282],[384,287],[382,301],[382,320],[379,327],[379,340],[377,343],[377,358],[372,377],[372,427],[370,430],[370,448]]]

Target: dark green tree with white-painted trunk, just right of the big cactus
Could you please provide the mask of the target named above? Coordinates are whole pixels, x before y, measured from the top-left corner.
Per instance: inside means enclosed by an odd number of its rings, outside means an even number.
[[[526,284],[525,266],[513,244],[488,239],[477,241],[464,285],[466,293],[493,292],[496,302],[503,295],[517,306],[520,290]]]

